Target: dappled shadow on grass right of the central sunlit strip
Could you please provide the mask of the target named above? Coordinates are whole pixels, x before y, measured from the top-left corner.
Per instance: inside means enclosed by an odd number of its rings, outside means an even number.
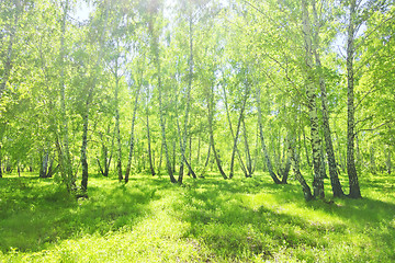
[[[245,196],[253,198],[261,193],[274,198],[275,205],[262,203],[251,207],[246,204]],[[317,224],[305,215],[282,213],[281,206],[287,203],[306,213],[321,213],[324,218],[328,215],[341,220]],[[343,199],[341,205],[306,203],[296,183],[275,185],[260,178],[234,181],[207,179],[189,184],[173,206],[178,216],[190,222],[189,235],[203,240],[219,258],[242,260],[240,255],[248,259],[251,254],[259,254],[263,259],[272,259],[281,247],[295,251],[304,251],[306,247],[329,248],[334,247],[332,242],[351,242],[352,235],[348,231],[372,240],[386,240],[388,248],[395,245],[395,229],[381,227],[381,224],[387,226],[394,219],[391,213],[395,211],[394,204],[370,198]],[[300,260],[306,260],[305,256]]]

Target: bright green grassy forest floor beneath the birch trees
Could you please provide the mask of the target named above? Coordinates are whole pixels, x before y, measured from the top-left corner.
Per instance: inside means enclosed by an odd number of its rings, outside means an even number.
[[[360,181],[363,199],[328,204],[267,174],[90,178],[76,201],[53,179],[5,175],[0,262],[395,262],[395,178]]]

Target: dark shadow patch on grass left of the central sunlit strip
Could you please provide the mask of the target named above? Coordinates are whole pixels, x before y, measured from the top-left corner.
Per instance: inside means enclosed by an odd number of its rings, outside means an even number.
[[[150,213],[149,202],[160,198],[155,188],[137,180],[126,186],[98,180],[101,186],[89,186],[88,199],[76,199],[50,179],[1,179],[0,250],[34,252],[58,240],[132,227]]]

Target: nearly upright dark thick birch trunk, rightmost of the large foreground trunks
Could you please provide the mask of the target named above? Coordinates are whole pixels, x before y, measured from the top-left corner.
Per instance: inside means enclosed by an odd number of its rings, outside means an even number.
[[[356,34],[356,15],[357,4],[356,0],[350,2],[349,25],[347,28],[347,173],[349,178],[351,198],[361,198],[361,191],[358,182],[358,174],[354,159],[354,34]]]

